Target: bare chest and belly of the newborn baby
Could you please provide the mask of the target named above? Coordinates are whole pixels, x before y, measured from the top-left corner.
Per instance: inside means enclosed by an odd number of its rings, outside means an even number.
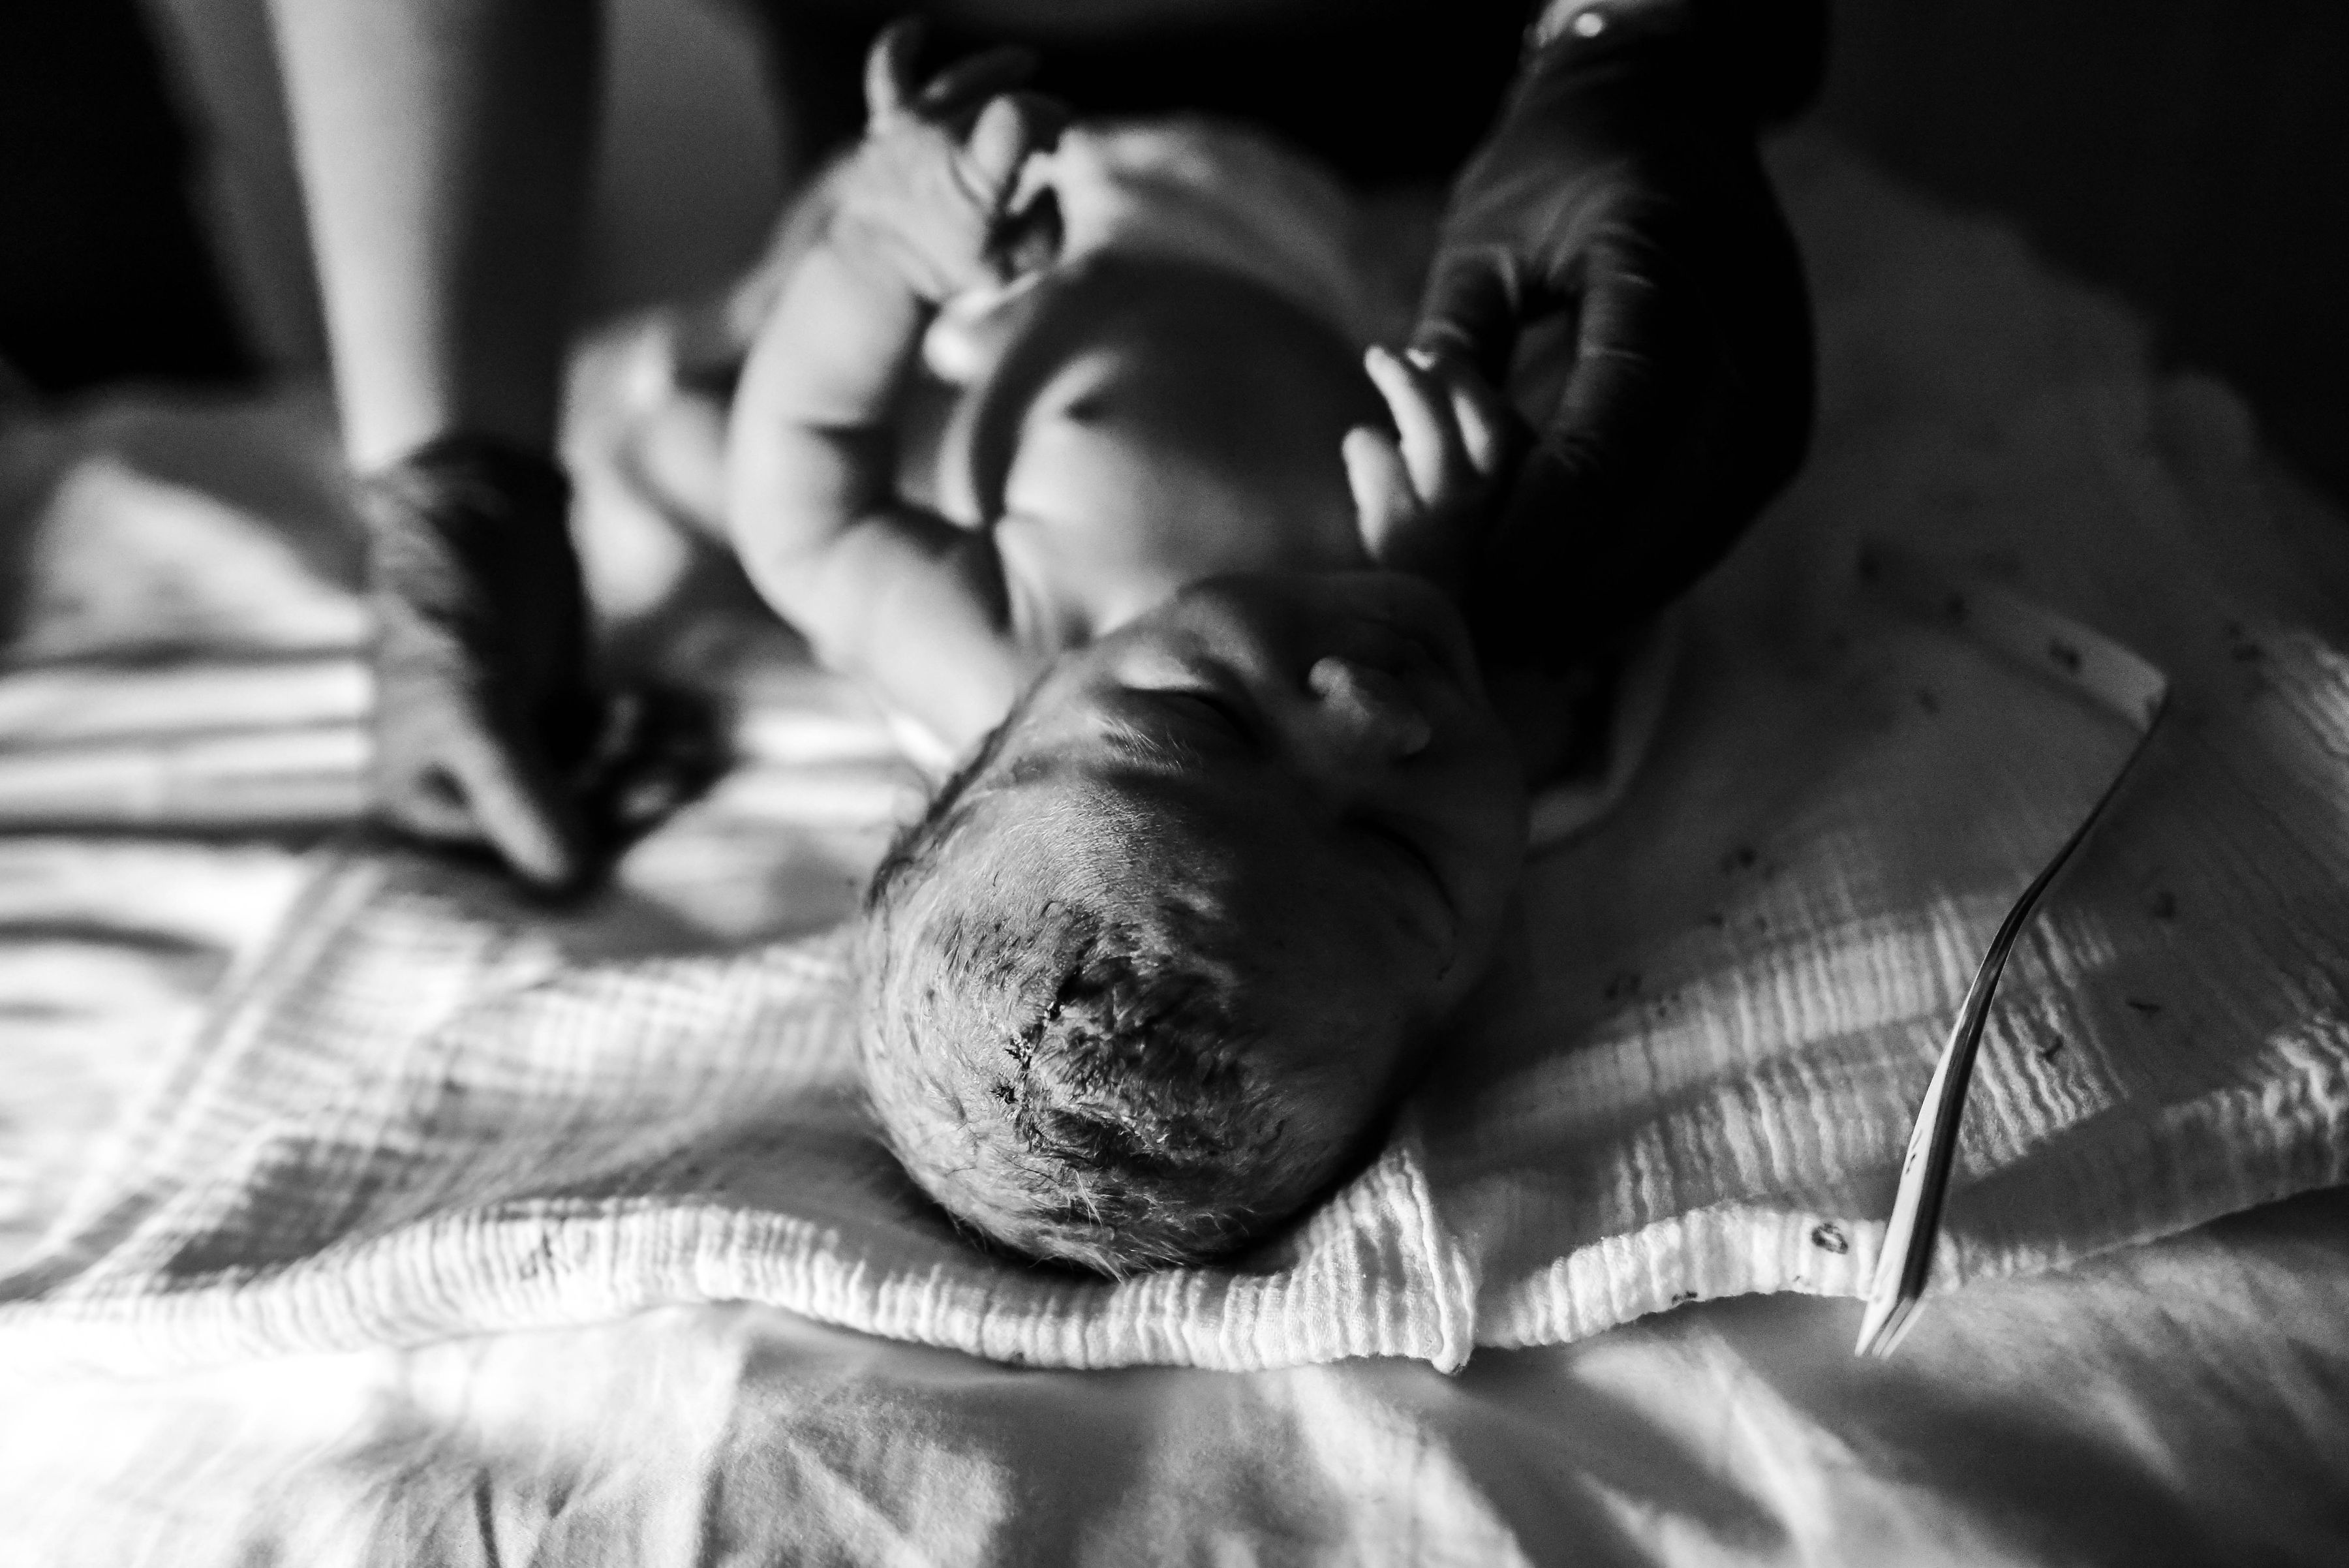
[[[1041,657],[1203,577],[1362,566],[1339,444],[1379,404],[1337,326],[1153,254],[1052,268],[977,324],[937,448]]]

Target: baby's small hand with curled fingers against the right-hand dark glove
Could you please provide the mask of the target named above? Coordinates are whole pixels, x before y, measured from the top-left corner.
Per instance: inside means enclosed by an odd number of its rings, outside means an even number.
[[[1372,347],[1362,366],[1395,420],[1393,437],[1369,425],[1346,432],[1362,549],[1379,566],[1456,587],[1525,446],[1525,423],[1461,359]]]

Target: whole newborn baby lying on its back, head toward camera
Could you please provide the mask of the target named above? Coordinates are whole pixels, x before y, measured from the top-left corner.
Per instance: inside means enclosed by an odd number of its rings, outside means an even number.
[[[822,660],[968,753],[860,939],[907,1171],[1022,1253],[1193,1263],[1362,1157],[1494,955],[1557,723],[1503,725],[1445,592],[1381,563],[1440,559],[1510,415],[1365,359],[1308,169],[1043,153],[1001,61],[916,87],[909,49],[745,369],[731,528]],[[1226,181],[1294,202],[1252,232]]]

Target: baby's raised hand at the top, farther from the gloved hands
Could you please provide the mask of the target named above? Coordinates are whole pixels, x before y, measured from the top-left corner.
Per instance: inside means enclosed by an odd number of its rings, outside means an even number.
[[[921,26],[900,21],[864,59],[864,143],[839,176],[832,232],[935,303],[1010,275],[1001,237],[1019,171],[1066,115],[1010,92],[1036,66],[1027,49],[972,54],[916,87],[918,45]]]

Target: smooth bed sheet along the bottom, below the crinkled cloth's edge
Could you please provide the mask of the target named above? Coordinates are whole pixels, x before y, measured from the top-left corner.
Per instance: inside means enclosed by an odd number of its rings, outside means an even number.
[[[754,1305],[0,1378],[42,1568],[2295,1563],[2349,1545],[2349,1202],[1936,1307],[1684,1307],[1579,1345],[1041,1373]]]

